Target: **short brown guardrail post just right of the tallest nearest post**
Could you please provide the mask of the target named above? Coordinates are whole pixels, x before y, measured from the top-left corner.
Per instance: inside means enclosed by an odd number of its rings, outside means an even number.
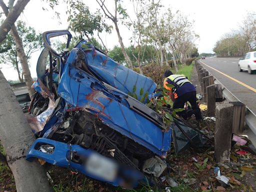
[[[232,133],[242,133],[245,119],[245,104],[240,101],[229,102],[233,104],[233,128]]]

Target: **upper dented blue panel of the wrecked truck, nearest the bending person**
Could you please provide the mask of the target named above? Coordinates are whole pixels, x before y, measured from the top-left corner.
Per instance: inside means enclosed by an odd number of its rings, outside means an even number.
[[[138,74],[137,72],[115,62],[109,56],[97,50],[92,44],[86,44],[83,40],[77,44],[78,48],[91,48],[91,51],[85,52],[86,62],[91,71],[101,80],[111,86],[121,90],[124,93],[133,92],[133,86],[136,87],[135,93],[140,100],[139,91],[143,88],[144,93],[151,94],[156,83],[149,77]]]

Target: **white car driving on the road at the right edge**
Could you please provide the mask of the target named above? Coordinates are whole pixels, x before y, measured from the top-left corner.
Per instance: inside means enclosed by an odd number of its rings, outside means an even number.
[[[256,51],[247,52],[238,62],[238,70],[247,70],[248,73],[252,73],[256,70]]]

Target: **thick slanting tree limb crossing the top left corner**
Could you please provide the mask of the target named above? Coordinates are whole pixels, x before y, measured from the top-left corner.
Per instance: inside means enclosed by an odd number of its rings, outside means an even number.
[[[6,38],[6,35],[28,2],[29,0],[17,0],[15,6],[13,6],[3,23],[0,25],[0,42]],[[0,0],[0,6],[3,5],[5,5],[3,0]]]

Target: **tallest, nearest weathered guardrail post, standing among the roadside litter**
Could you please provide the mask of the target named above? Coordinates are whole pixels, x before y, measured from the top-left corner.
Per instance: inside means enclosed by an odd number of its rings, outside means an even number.
[[[214,132],[214,151],[217,162],[230,161],[232,119],[233,105],[231,103],[217,105]]]

